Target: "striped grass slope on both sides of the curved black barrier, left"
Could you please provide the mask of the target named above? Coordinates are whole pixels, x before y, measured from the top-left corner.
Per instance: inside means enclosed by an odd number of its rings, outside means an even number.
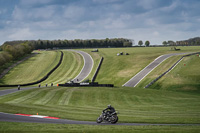
[[[75,78],[83,67],[83,58],[80,54],[63,51],[64,57],[61,65],[56,69],[47,80],[41,84],[66,83]],[[44,77],[60,60],[59,51],[41,51],[34,57],[17,65],[2,79],[0,84],[23,84],[37,81]]]

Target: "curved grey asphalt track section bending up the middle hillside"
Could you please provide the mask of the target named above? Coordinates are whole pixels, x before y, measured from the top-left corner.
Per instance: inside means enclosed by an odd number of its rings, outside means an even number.
[[[83,81],[90,74],[90,72],[92,71],[93,65],[94,65],[94,61],[93,61],[92,57],[86,52],[78,51],[78,50],[70,50],[70,51],[79,53],[83,57],[83,60],[84,60],[84,66],[83,66],[81,72],[79,73],[78,76],[76,76],[72,80],[74,83],[78,83],[78,82]]]

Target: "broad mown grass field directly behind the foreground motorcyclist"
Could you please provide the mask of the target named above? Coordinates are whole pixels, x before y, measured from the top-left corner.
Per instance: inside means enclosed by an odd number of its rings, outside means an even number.
[[[50,87],[0,97],[0,112],[95,121],[106,105],[119,122],[200,123],[200,96],[141,88]]]

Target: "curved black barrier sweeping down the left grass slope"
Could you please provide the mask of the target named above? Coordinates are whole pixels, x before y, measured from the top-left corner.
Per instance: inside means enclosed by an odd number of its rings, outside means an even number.
[[[18,84],[18,85],[20,85],[20,86],[34,85],[34,84],[38,84],[38,83],[46,80],[62,63],[63,52],[62,51],[60,51],[60,52],[61,52],[61,56],[60,56],[60,60],[59,60],[58,64],[49,73],[47,73],[47,75],[45,75],[42,79],[35,81],[35,82],[32,82],[32,83]],[[0,85],[0,87],[17,87],[18,85]]]

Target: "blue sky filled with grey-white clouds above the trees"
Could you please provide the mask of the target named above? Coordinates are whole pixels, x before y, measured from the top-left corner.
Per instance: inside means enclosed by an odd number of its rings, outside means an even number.
[[[200,0],[0,0],[0,45],[12,40],[200,36]]]

